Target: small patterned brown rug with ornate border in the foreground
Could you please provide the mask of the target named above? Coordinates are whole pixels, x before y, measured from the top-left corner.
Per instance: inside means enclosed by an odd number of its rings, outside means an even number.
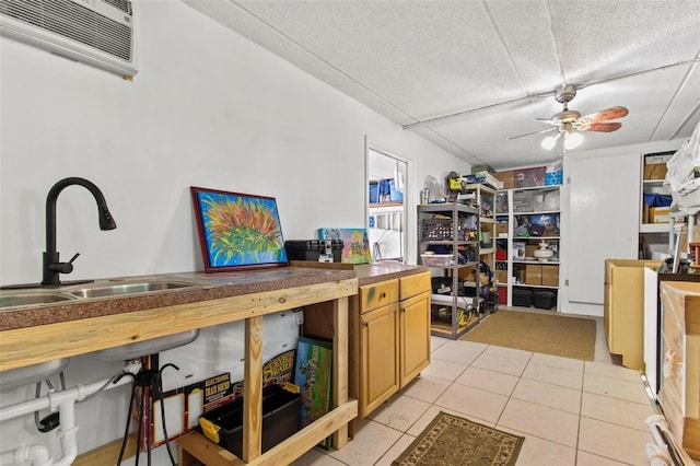
[[[440,411],[394,466],[513,466],[525,438]]]

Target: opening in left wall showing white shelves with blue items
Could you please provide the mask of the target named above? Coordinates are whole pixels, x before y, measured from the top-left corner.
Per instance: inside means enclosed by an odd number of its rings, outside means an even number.
[[[406,263],[408,162],[368,147],[368,185],[372,261]]]

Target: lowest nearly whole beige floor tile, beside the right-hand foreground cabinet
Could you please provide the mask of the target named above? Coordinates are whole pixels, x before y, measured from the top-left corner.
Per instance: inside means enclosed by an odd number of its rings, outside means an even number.
[[[645,465],[651,433],[609,422],[581,418],[579,450],[631,465]]]

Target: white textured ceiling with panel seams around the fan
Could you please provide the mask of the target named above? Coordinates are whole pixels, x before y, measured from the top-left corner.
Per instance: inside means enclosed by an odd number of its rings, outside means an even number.
[[[621,105],[591,150],[689,137],[700,121],[700,0],[229,1],[192,8],[472,164],[561,158],[555,91]]]

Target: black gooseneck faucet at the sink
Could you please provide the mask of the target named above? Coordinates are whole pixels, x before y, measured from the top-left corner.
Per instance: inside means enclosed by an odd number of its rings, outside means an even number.
[[[109,213],[107,201],[97,186],[84,178],[70,177],[56,183],[46,196],[46,252],[44,253],[44,267],[42,284],[61,284],[60,273],[73,271],[73,260],[80,253],[75,254],[68,263],[61,263],[56,251],[56,201],[63,188],[79,185],[88,189],[97,202],[97,214],[100,215],[100,230],[114,230],[117,224]]]

